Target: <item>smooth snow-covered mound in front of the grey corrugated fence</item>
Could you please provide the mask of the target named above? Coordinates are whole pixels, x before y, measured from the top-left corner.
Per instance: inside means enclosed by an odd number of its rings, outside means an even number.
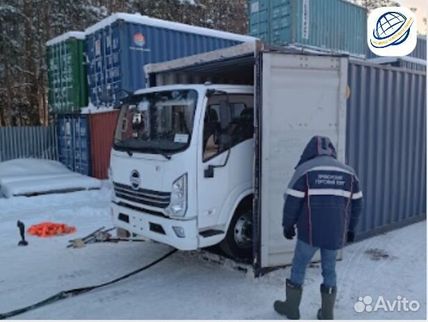
[[[0,195],[7,198],[100,186],[100,180],[72,172],[58,161],[15,159],[0,162]]]

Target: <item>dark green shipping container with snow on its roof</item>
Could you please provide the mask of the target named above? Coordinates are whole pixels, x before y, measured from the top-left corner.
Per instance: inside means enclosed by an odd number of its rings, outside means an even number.
[[[49,111],[78,113],[88,105],[85,33],[70,31],[46,46]]]

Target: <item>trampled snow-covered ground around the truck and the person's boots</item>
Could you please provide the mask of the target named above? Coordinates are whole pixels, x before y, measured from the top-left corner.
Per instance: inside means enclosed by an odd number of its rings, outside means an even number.
[[[98,284],[134,271],[170,248],[157,243],[98,243],[66,248],[68,240],[111,227],[109,189],[0,199],[0,312],[43,300],[58,291]],[[73,235],[27,236],[18,247],[16,221],[27,227],[51,220],[77,227]],[[203,259],[205,252],[177,252],[109,287],[61,300],[15,319],[283,319],[274,300],[284,298],[290,268],[255,279],[251,272]],[[317,266],[317,265],[315,265]],[[319,307],[320,268],[308,268],[301,318]],[[338,262],[336,319],[426,318],[426,222],[367,239],[344,249]],[[358,296],[418,300],[418,312],[356,313]]]

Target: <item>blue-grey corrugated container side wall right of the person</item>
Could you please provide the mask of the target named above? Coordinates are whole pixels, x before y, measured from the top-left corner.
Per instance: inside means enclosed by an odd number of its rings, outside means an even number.
[[[425,218],[426,74],[350,63],[347,163],[365,196],[361,238]]]

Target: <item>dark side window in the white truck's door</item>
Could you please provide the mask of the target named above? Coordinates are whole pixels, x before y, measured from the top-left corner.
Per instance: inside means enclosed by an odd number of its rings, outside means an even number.
[[[253,138],[253,96],[252,95],[229,95],[229,108],[232,118],[221,120],[222,101],[226,101],[225,95],[214,95],[209,98],[205,110],[203,129],[203,161],[212,159],[221,154],[229,147]],[[224,108],[224,107],[223,107]],[[223,122],[222,122],[223,121]],[[219,144],[219,136],[230,138],[227,146]]]

